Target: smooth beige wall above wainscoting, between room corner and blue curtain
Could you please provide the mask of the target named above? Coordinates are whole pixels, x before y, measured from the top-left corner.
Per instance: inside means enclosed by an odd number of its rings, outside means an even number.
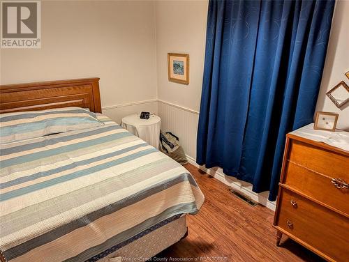
[[[198,111],[208,1],[156,1],[158,99]],[[168,53],[189,54],[188,86],[168,81]]]

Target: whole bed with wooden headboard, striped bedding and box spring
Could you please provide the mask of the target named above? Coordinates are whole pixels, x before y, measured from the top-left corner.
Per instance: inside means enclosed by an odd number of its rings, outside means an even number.
[[[184,167],[101,114],[98,80],[0,87],[1,261],[144,261],[186,236],[186,215],[200,210]],[[67,114],[94,125],[31,131]]]

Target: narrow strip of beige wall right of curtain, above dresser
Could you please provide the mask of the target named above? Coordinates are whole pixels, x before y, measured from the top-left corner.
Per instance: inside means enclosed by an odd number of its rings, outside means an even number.
[[[336,1],[318,105],[315,110],[339,113],[337,128],[347,131],[349,131],[349,103],[339,109],[327,97],[326,93],[342,80],[349,85],[349,79],[344,75],[345,72],[349,71],[348,14],[349,1]]]

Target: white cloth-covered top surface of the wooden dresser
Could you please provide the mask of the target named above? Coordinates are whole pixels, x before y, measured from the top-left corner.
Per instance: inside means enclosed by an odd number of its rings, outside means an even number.
[[[337,129],[335,132],[314,130],[314,123],[311,123],[305,125],[303,128],[288,133],[288,137],[293,136],[302,137],[315,142],[322,142],[349,153],[349,132],[343,130]]]

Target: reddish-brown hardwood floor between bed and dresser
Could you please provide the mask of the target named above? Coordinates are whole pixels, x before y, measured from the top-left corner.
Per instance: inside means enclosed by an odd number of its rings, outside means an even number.
[[[188,236],[158,254],[157,259],[323,261],[286,236],[281,240],[281,247],[276,247],[272,210],[248,205],[232,195],[227,185],[191,164],[187,164],[186,169],[193,174],[205,194],[205,203],[198,215],[187,216]]]

